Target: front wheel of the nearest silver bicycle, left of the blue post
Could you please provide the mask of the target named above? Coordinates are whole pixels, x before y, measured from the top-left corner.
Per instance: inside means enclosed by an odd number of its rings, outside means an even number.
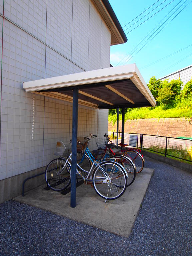
[[[66,189],[71,182],[71,166],[65,158],[52,160],[45,170],[45,180],[47,185],[54,191]],[[64,167],[64,168],[63,168]]]

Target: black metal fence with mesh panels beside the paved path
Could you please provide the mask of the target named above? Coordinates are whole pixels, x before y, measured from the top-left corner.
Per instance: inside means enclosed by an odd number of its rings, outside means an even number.
[[[121,143],[121,133],[108,132],[113,144]],[[164,137],[139,133],[124,133],[124,143],[130,147],[145,149],[164,155],[192,162],[192,139]]]

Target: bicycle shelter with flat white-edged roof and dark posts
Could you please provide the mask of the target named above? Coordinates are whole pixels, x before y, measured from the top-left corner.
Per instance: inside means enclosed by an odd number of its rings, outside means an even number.
[[[26,92],[73,103],[71,207],[76,206],[78,104],[97,109],[151,107],[156,101],[135,64],[23,83]],[[123,121],[123,120],[122,120]],[[122,134],[124,126],[122,122]]]

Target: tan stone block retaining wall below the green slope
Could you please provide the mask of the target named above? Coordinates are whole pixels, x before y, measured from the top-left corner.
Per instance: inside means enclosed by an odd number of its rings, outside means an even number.
[[[119,121],[121,131],[122,121]],[[117,131],[117,123],[108,123],[108,131]],[[167,137],[192,138],[192,118],[151,118],[135,119],[125,122],[125,132],[141,133]]]

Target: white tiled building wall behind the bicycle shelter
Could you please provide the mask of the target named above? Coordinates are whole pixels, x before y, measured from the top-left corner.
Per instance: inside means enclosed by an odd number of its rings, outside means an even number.
[[[68,144],[72,134],[72,104],[27,93],[22,82],[109,67],[110,41],[91,0],[0,1],[0,202],[20,193],[26,173],[42,171],[57,140]],[[78,136],[105,133],[107,118],[108,110],[79,105]]]

